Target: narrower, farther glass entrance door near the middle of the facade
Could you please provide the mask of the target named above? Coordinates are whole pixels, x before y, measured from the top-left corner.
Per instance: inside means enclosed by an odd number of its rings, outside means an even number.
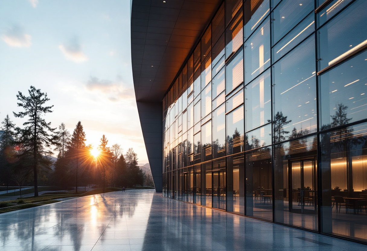
[[[226,170],[212,171],[213,207],[226,209]]]

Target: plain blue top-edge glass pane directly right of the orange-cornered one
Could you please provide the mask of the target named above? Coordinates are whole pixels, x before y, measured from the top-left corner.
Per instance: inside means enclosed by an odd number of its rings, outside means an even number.
[[[314,10],[313,0],[283,0],[272,12],[272,44]]]

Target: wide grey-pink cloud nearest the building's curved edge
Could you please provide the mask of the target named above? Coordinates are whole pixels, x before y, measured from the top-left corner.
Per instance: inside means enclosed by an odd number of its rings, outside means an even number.
[[[106,94],[108,99],[112,102],[116,102],[121,99],[135,98],[134,90],[132,88],[128,88],[119,76],[117,76],[116,81],[90,77],[86,83],[86,88],[90,91],[98,91]]]

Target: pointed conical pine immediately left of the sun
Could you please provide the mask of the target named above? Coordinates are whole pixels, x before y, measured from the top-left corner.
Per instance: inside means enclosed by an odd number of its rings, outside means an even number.
[[[70,141],[69,149],[72,152],[72,156],[76,159],[76,175],[75,175],[75,192],[78,193],[78,169],[79,161],[84,156],[84,150],[86,148],[86,133],[83,130],[83,125],[79,121],[73,131],[73,135]]]

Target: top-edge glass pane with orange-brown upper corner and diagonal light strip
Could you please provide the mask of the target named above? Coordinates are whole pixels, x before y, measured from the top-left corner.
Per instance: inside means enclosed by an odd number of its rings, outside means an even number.
[[[269,15],[269,0],[246,0],[244,3],[245,40]],[[269,41],[270,42],[270,41]]]

